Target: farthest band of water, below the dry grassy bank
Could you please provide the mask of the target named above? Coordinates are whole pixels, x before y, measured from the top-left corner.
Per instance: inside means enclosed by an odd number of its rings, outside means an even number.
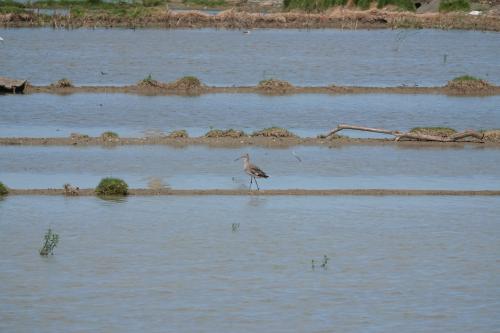
[[[2,75],[48,84],[132,84],[195,75],[210,85],[500,84],[499,34],[444,30],[0,29]],[[105,73],[102,75],[101,72]]]

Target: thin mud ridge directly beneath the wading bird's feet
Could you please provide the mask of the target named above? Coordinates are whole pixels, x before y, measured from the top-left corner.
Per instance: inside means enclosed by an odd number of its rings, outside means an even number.
[[[62,195],[64,189],[10,189],[8,195]],[[449,195],[449,196],[500,196],[500,190],[482,190],[482,191],[467,191],[467,190],[407,190],[407,189],[349,189],[349,190],[304,190],[304,189],[289,189],[289,190],[152,190],[152,189],[130,189],[131,196],[193,196],[193,195],[259,195],[259,196],[277,196],[277,195],[298,195],[298,196],[422,196],[422,195]],[[80,189],[78,196],[97,196],[94,189]],[[72,196],[75,197],[75,196]]]

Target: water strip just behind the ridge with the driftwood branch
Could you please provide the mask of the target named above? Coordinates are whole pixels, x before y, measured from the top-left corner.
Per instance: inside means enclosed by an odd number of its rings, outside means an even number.
[[[199,136],[210,127],[253,132],[280,126],[301,136],[316,137],[340,123],[398,130],[418,126],[500,128],[499,105],[500,96],[7,95],[0,97],[0,136],[68,137],[72,132],[98,136],[113,130],[121,136],[141,137],[181,128]]]

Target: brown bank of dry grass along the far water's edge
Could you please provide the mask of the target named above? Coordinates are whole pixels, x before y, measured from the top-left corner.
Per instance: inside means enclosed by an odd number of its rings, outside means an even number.
[[[371,9],[366,11],[334,9],[325,13],[250,13],[235,10],[217,15],[202,12],[175,12],[168,9],[145,11],[134,16],[118,15],[112,11],[88,11],[80,15],[47,16],[36,13],[6,13],[0,15],[4,27],[160,27],[176,28],[226,28],[226,29],[381,29],[381,28],[435,28],[500,31],[497,15],[472,16],[465,13],[394,12]]]

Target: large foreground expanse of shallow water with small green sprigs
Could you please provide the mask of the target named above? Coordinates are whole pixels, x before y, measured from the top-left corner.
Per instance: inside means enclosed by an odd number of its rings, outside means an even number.
[[[487,197],[8,197],[0,331],[494,332],[498,216]]]

